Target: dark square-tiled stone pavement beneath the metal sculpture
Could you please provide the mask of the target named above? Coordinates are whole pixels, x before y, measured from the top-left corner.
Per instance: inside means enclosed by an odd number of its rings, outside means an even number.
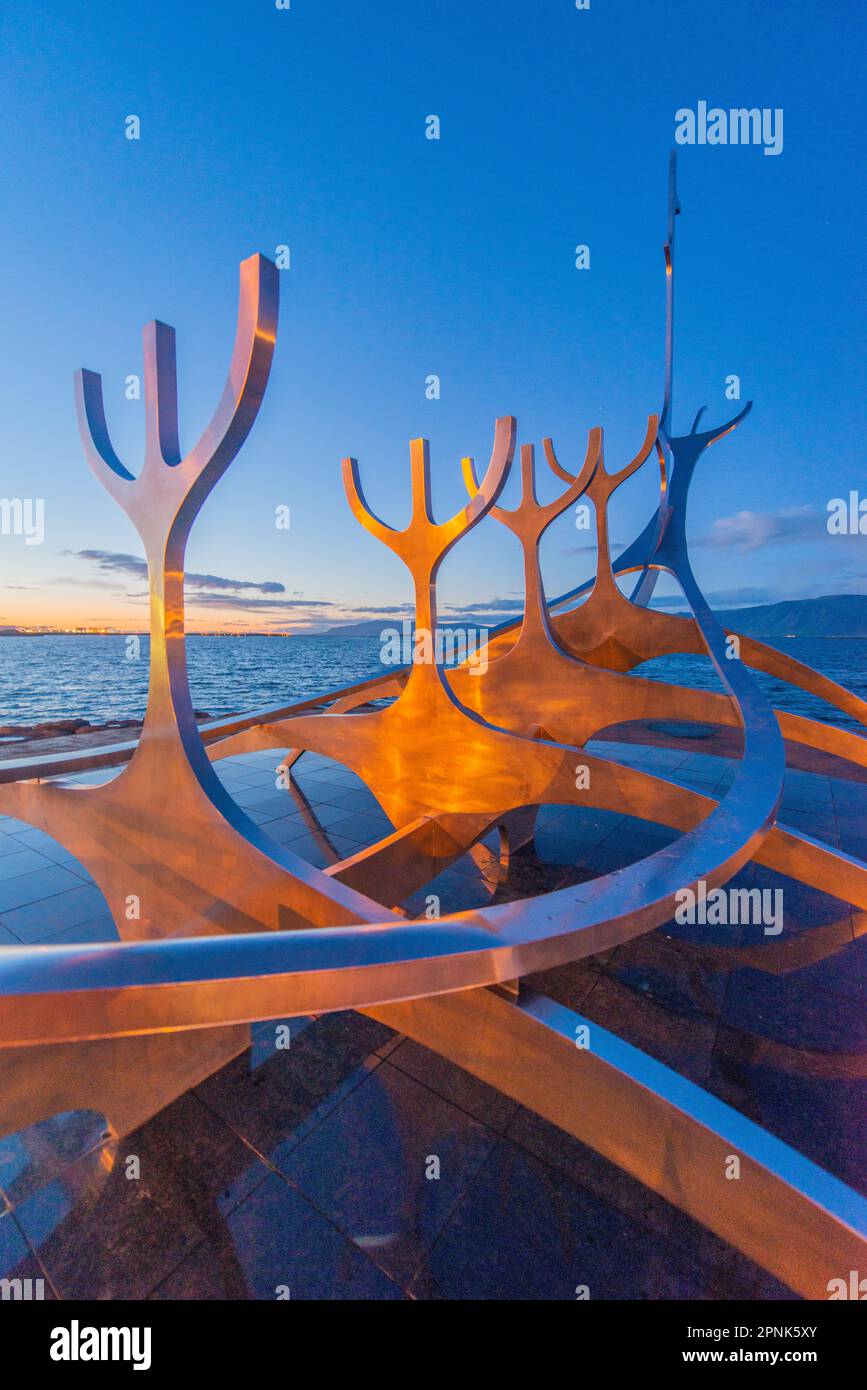
[[[593,752],[718,792],[724,760],[599,742]],[[310,812],[275,791],[274,753],[217,769],[246,812],[317,865],[388,831],[368,790],[318,758]],[[99,776],[93,774],[93,780]],[[867,856],[867,787],[786,776],[782,816]],[[659,848],[668,831],[543,808],[509,883],[467,856],[406,906],[442,912],[556,888]],[[331,845],[331,848],[329,848]],[[867,1191],[867,942],[848,903],[782,887],[785,930],[668,923],[531,981],[620,1033]],[[0,944],[103,941],[115,929],[53,840],[0,820]],[[0,1140],[0,1277],[67,1298],[788,1298],[774,1279],[467,1073],[360,1015],[254,1029],[253,1047],[119,1144],[60,1116]],[[139,1159],[139,1177],[126,1176]],[[429,1179],[431,1159],[438,1179]]]

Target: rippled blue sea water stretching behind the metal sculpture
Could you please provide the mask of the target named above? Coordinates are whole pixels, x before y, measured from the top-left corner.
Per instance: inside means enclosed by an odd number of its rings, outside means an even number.
[[[781,651],[867,699],[867,641],[789,638]],[[188,667],[196,709],[208,714],[290,705],[383,673],[377,637],[190,637]],[[129,660],[126,638],[0,638],[0,724],[39,724],[51,719],[140,719],[147,699],[149,641]],[[721,689],[710,662],[666,656],[641,674],[700,689]],[[824,701],[757,674],[779,709],[827,719],[843,728],[860,726]]]

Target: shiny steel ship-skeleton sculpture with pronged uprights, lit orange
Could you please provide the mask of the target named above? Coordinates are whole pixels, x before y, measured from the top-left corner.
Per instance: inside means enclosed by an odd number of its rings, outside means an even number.
[[[0,766],[0,809],[60,840],[92,873],[117,922],[117,945],[0,948],[0,1133],[75,1108],[126,1133],[236,1055],[249,1024],[292,1013],[358,1008],[442,1052],[621,1165],[807,1297],[856,1268],[867,1247],[867,1202],[736,1111],[578,1015],[520,991],[521,976],[595,955],[671,916],[675,894],[725,883],[749,859],[867,906],[867,866],[778,823],[785,744],[867,766],[867,739],[773,710],[748,667],[818,694],[860,723],[867,705],[807,667],[725,632],[689,564],[685,513],[699,456],[718,430],[671,431],[674,220],[670,177],[666,389],[635,457],[609,473],[602,430],[581,471],[550,439],[565,484],[540,505],[535,455],[521,449],[522,496],[499,506],[515,421],[497,421],[479,484],[445,523],[431,510],[428,445],[410,446],[413,514],[396,531],[367,506],[354,460],[349,505],[413,575],[417,630],[436,631],[436,574],[461,537],[492,516],[522,549],[525,609],[503,624],[482,676],[432,660],[282,710],[197,728],[183,645],[183,553],[192,523],[249,434],[276,336],[278,275],[261,256],[240,268],[240,309],[228,382],[190,453],[178,443],[174,332],[144,332],[147,434],[135,478],[111,446],[100,378],[81,373],[78,406],[90,467],[136,525],[151,594],[147,712],[136,744]],[[613,564],[613,492],[652,450],[660,461],[656,516]],[[586,496],[597,532],[596,577],[549,606],[539,543]],[[675,577],[692,617],[646,607],[660,571]],[[632,599],[617,577],[639,574]],[[585,596],[586,595],[586,596]],[[575,603],[575,600],[584,602]],[[650,656],[710,656],[727,695],[629,676]],[[390,699],[379,709],[360,709]],[[584,746],[618,720],[702,719],[741,731],[742,758],[717,802]],[[289,769],[317,751],[354,769],[395,826],[378,845],[320,872],[274,844],[231,799],[210,763],[274,748]],[[578,783],[577,764],[589,771]],[[122,766],[101,785],[58,777]],[[532,835],[535,809],[572,803],[628,812],[681,837],[617,873],[528,901],[408,922],[399,905],[459,855],[490,869],[482,837],[500,827],[502,855]],[[311,812],[313,815],[313,812]],[[129,897],[140,903],[132,922]],[[509,984],[509,990],[497,988]],[[490,987],[495,988],[490,988]],[[131,1079],[135,1076],[135,1086]],[[741,1182],[725,1162],[741,1158]]]

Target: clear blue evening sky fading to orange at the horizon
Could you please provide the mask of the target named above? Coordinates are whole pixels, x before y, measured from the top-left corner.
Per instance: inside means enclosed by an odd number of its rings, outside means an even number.
[[[699,100],[781,107],[785,139],[777,157],[679,152],[675,427],[702,404],[731,414],[729,374],[754,399],[699,467],[696,574],[727,605],[867,591],[863,538],[825,530],[828,499],[864,480],[864,31],[856,0],[7,8],[0,495],[44,499],[44,542],[0,537],[0,624],[146,624],[140,549],[83,461],[72,374],[101,371],[136,471],[143,406],[124,382],[143,324],[165,320],[192,445],[254,250],[292,252],[271,385],[188,550],[189,571],[242,587],[190,584],[190,628],[303,630],[408,600],[343,500],[346,453],[396,524],[415,435],[443,516],[497,414],[567,463],[602,424],[609,464],[625,461],[660,404],[667,156]],[[616,541],[653,498],[646,468],[616,499]],[[549,594],[585,577],[585,539],[570,517],[552,528]],[[459,545],[440,602],[520,606],[514,539],[489,521]]]

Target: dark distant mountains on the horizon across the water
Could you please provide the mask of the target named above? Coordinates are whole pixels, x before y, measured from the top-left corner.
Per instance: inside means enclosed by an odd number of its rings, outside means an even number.
[[[745,609],[716,609],[722,627],[767,641],[781,637],[867,638],[867,594],[827,594],[818,599],[786,599]],[[442,623],[443,628],[496,627],[503,614],[479,614],[464,623]],[[400,630],[400,619],[370,619],[347,627],[329,627],[317,637],[379,637],[383,628]],[[313,635],[313,634],[311,634]]]

